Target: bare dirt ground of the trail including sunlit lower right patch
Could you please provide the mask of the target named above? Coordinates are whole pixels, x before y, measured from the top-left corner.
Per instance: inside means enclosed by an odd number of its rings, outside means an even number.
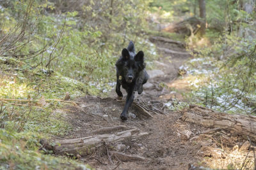
[[[242,138],[218,128],[184,122],[181,119],[183,110],[168,109],[170,103],[186,102],[182,94],[190,89],[188,81],[179,78],[182,74],[180,66],[192,56],[179,43],[168,43],[168,39],[153,37],[150,41],[157,46],[161,57],[155,61],[155,69],[148,71],[150,79],[144,85],[143,93],[136,94],[136,104],[132,104],[127,121],[122,122],[119,118],[125,96],[121,101],[116,99],[114,89],[106,98],[79,97],[75,106],[67,106],[63,115],[73,130],[65,139],[91,136],[98,140],[102,134],[109,136],[109,141],[107,139],[98,145],[90,154],[74,156],[95,169],[243,167],[248,146],[244,152],[239,152],[238,145],[244,143]],[[115,140],[118,134],[129,131],[127,129],[135,129],[138,136]],[[249,157],[252,158],[252,154]],[[253,161],[248,162],[252,167]]]

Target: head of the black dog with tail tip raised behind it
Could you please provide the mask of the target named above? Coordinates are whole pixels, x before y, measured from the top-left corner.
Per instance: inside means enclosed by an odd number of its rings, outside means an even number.
[[[145,68],[144,53],[135,53],[132,41],[127,48],[122,50],[122,56],[116,62],[118,71],[124,76],[127,83],[131,83],[136,76]]]

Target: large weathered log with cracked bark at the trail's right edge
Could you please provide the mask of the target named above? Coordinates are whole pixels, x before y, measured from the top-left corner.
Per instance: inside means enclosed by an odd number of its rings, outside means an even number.
[[[230,115],[204,108],[202,106],[191,105],[182,111],[182,120],[192,122],[204,127],[225,129],[231,133],[236,133],[247,139],[247,136],[256,141],[256,117],[252,115]]]

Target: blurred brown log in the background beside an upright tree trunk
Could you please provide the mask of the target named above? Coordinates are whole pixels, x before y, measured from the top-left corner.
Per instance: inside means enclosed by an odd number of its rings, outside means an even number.
[[[202,22],[196,18],[196,17],[190,17],[186,20],[182,20],[181,22],[178,22],[176,24],[170,25],[166,28],[163,29],[163,31],[166,32],[177,32],[179,34],[186,34],[188,36],[191,35],[191,30],[188,25],[191,25],[193,29],[193,34],[196,34],[198,31],[199,27]]]

